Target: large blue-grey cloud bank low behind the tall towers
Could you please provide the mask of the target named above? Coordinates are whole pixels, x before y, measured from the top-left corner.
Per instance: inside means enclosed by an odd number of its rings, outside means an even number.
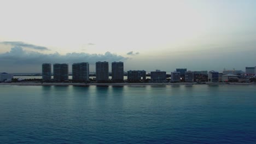
[[[28,73],[41,71],[42,63],[68,63],[69,68],[73,63],[89,62],[90,65],[95,65],[97,61],[124,61],[126,57],[106,52],[104,54],[89,54],[89,53],[67,53],[60,55],[59,53],[45,54],[34,51],[26,51],[21,46],[11,48],[9,52],[0,53],[0,72],[7,71],[9,73]],[[4,69],[2,69],[4,68]],[[71,70],[71,69],[70,69]],[[95,71],[92,69],[91,71]]]

